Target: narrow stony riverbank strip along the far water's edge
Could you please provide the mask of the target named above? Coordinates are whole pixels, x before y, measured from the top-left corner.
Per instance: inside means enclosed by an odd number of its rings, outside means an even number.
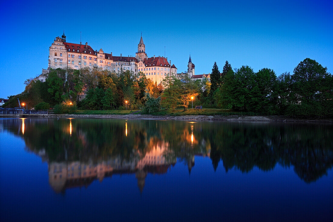
[[[94,115],[94,114],[58,114],[58,115],[11,115],[0,117],[17,117],[17,118],[91,118],[91,119],[161,119],[161,120],[220,120],[220,121],[274,121],[274,122],[327,122],[332,123],[332,119],[297,119],[285,116],[205,116],[205,115],[184,115],[184,116],[155,116],[155,115]]]

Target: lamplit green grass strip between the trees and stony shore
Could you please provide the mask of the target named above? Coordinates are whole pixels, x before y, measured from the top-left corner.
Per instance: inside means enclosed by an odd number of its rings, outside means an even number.
[[[118,115],[127,115],[138,110],[78,110],[73,114],[91,114],[91,115],[108,115],[108,114],[118,114]],[[260,116],[262,113],[254,113],[254,112],[231,112],[226,109],[214,109],[214,108],[203,108],[203,109],[187,109],[183,111],[182,108],[175,109],[174,111],[170,110],[161,110],[156,113],[145,113],[143,110],[136,112],[135,114],[152,114],[156,116],[185,116],[185,115],[204,115],[204,116]]]

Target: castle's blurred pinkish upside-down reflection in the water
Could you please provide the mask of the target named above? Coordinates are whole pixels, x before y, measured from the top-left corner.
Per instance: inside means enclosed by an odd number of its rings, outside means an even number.
[[[176,158],[166,159],[167,153],[167,144],[163,144],[162,146],[157,145],[143,158],[140,158],[141,155],[138,153],[137,157],[131,161],[115,157],[97,164],[92,161],[87,163],[79,161],[51,162],[49,163],[49,183],[52,189],[59,193],[68,188],[88,187],[94,180],[102,182],[105,177],[112,177],[114,174],[135,174],[138,187],[142,192],[148,173],[164,174],[176,163]],[[190,173],[192,166],[194,166],[194,155],[187,159]]]

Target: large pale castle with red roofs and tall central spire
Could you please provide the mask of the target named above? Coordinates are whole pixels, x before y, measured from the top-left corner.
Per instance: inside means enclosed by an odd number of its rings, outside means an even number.
[[[135,57],[125,57],[122,54],[113,56],[112,52],[110,54],[104,53],[102,48],[99,51],[94,51],[87,42],[84,45],[82,45],[82,42],[80,44],[68,43],[66,42],[65,32],[61,38],[56,37],[49,48],[49,68],[83,69],[88,67],[90,70],[100,68],[115,73],[130,70],[135,75],[142,72],[157,84],[167,74],[177,73],[175,65],[171,66],[170,64],[171,60],[168,62],[167,58],[163,56],[148,58],[142,35]]]

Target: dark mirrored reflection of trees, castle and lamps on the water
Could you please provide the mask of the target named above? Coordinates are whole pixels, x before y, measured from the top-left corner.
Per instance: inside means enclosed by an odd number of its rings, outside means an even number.
[[[195,156],[210,158],[214,170],[226,172],[293,167],[306,183],[326,175],[333,164],[332,125],[70,119],[68,134],[66,119],[27,121],[29,131],[24,132],[22,119],[19,136],[48,162],[55,192],[87,187],[114,174],[134,174],[142,192],[149,173],[167,173],[177,161],[190,173]],[[16,134],[21,120],[0,124]]]

